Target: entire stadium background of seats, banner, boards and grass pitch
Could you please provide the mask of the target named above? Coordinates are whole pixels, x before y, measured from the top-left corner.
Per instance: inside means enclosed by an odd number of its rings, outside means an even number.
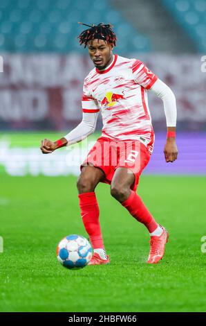
[[[205,17],[205,0],[1,0],[1,311],[205,311]],[[63,136],[82,118],[82,85],[93,65],[77,41],[84,29],[77,22],[111,22],[114,52],[143,60],[176,95],[178,160],[165,163],[164,109],[149,95],[156,142],[139,189],[171,230],[160,266],[145,264],[147,232],[109,198],[106,185],[97,195],[113,266],[74,274],[55,261],[62,237],[86,235],[75,180],[102,126],[99,117],[97,132],[81,146],[39,151],[41,139]]]

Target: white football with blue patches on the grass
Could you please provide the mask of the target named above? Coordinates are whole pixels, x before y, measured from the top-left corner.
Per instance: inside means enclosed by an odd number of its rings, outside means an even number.
[[[83,268],[91,257],[91,244],[86,238],[77,234],[64,237],[57,246],[57,259],[66,268]]]

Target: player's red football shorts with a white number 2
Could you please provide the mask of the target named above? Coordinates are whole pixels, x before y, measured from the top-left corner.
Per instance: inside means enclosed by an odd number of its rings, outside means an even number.
[[[93,165],[104,172],[102,182],[111,185],[115,169],[124,167],[128,173],[135,175],[135,182],[131,189],[136,191],[140,174],[149,163],[151,153],[140,141],[113,141],[100,137],[89,151],[86,160],[81,164],[80,170],[86,165]]]

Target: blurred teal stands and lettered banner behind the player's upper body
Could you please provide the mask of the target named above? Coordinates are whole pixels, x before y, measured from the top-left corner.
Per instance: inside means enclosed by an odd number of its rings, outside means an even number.
[[[114,52],[144,61],[173,89],[178,130],[206,130],[205,17],[206,0],[1,0],[0,130],[77,126],[93,68],[77,22],[113,24]],[[149,100],[155,131],[165,130],[162,102]]]

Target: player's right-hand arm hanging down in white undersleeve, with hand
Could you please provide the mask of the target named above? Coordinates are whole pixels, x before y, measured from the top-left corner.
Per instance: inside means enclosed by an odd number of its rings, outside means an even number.
[[[169,86],[160,79],[156,80],[151,86],[150,91],[163,101],[167,122],[167,140],[164,148],[165,160],[166,162],[174,162],[178,156],[178,148],[176,146],[176,98]]]

